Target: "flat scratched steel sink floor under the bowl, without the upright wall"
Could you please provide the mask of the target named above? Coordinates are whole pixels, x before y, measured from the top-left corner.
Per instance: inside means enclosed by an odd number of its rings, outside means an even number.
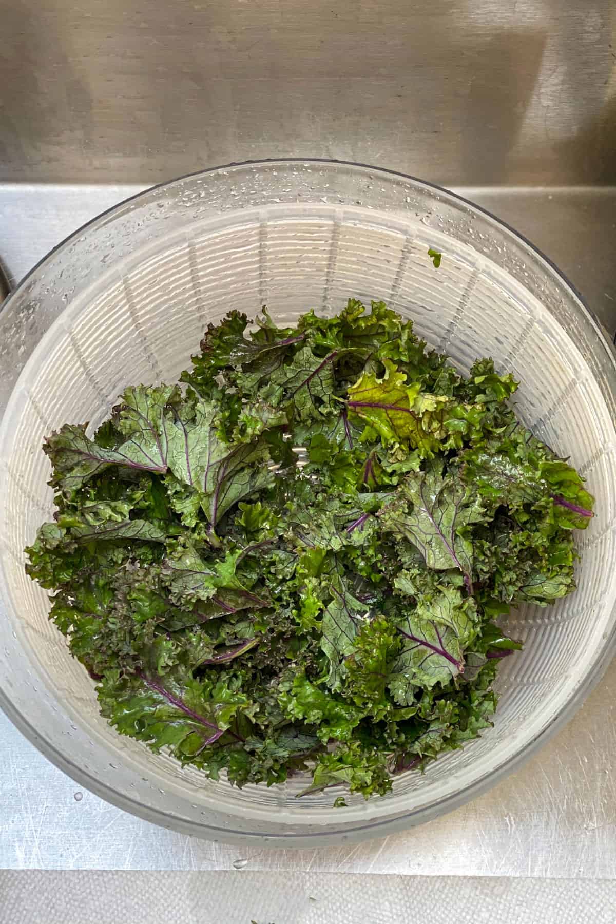
[[[0,259],[17,279],[72,229],[139,187],[1,187]],[[473,189],[550,254],[616,327],[616,191]],[[616,663],[521,771],[438,821],[360,845],[243,849],[189,839],[79,790],[0,715],[0,868],[253,869],[613,878]]]

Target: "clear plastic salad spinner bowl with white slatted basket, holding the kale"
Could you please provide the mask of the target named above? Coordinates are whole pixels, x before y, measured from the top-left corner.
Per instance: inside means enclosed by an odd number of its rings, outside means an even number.
[[[442,253],[435,271],[429,248]],[[520,381],[519,417],[585,475],[597,515],[578,590],[507,624],[492,730],[365,801],[296,799],[299,777],[237,789],[119,736],[48,622],[24,546],[53,513],[43,437],[93,429],[134,383],[173,382],[208,322],[267,304],[293,324],[382,299],[461,371],[491,356]],[[506,225],[440,188],[357,164],[281,161],[187,176],[116,206],[43,260],[0,313],[0,703],[79,784],[142,818],[212,840],[335,845],[461,805],[533,754],[614,648],[616,441],[609,343],[562,274]]]

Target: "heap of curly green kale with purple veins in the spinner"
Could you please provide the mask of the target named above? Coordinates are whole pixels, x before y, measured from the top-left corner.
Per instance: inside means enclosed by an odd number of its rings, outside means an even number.
[[[499,620],[574,590],[593,497],[511,375],[462,376],[383,302],[231,311],[200,346],[182,386],[45,441],[26,569],[119,733],[239,786],[384,795],[489,729],[522,647]]]

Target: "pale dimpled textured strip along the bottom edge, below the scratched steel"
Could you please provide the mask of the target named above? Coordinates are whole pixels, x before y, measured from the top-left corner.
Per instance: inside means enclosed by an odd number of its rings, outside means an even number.
[[[613,924],[616,883],[236,872],[0,872],[0,924]]]

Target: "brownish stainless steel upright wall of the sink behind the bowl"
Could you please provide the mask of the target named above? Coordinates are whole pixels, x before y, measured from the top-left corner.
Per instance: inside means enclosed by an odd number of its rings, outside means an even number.
[[[16,0],[0,179],[299,156],[445,186],[610,183],[615,27],[611,0]]]

